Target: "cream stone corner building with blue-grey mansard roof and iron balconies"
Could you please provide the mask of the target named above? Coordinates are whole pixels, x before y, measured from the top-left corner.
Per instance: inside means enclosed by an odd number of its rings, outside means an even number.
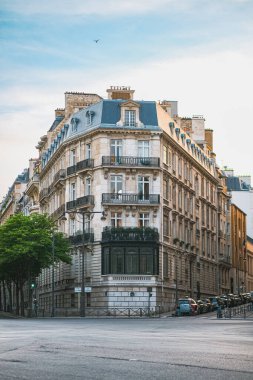
[[[90,105],[58,110],[38,145],[40,210],[72,247],[72,265],[54,268],[56,311],[79,313],[82,268],[90,310],[168,311],[181,296],[215,295],[219,177],[211,150],[161,104],[136,101],[127,87],[107,91],[109,99],[91,94]],[[52,268],[38,284],[46,311],[51,290]]]

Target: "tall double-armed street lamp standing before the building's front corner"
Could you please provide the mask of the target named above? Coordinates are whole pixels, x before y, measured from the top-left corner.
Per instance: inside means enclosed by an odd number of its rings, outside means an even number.
[[[75,211],[66,211],[67,214],[79,214],[82,215],[82,267],[81,267],[81,293],[80,293],[80,317],[85,317],[85,278],[84,278],[84,252],[85,252],[85,216],[93,215],[93,214],[102,214],[101,220],[105,220],[105,212],[104,211],[83,211],[83,210],[75,210]],[[67,220],[66,217],[63,217],[62,220]]]

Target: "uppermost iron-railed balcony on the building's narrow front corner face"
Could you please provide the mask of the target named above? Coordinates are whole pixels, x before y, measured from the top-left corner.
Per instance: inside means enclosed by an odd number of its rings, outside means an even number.
[[[156,167],[160,166],[159,157],[131,157],[131,156],[103,156],[103,166],[125,166],[125,167]]]

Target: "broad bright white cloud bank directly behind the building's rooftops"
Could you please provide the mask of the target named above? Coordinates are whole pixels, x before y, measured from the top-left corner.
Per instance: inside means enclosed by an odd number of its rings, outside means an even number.
[[[238,37],[239,38],[239,37]],[[66,91],[106,97],[110,85],[136,90],[135,99],[178,100],[179,114],[203,114],[214,130],[217,161],[237,173],[252,173],[251,89],[253,49],[248,41],[224,49],[225,41],[170,52],[163,59],[55,70],[20,67],[6,71],[17,78],[0,93],[0,198],[17,174],[36,156],[35,145],[50,128],[54,109],[64,107]],[[172,58],[171,58],[171,57]],[[9,77],[8,77],[9,75]],[[236,154],[235,154],[236,152]],[[8,158],[8,170],[6,160]]]

